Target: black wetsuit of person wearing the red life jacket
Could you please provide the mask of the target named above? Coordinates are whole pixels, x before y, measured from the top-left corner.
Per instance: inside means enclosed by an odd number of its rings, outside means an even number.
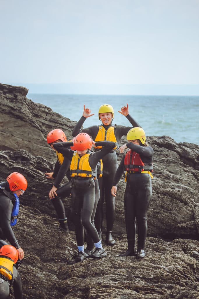
[[[144,164],[152,164],[153,149],[152,147],[143,147],[141,145],[127,143],[127,147],[140,155]],[[115,173],[113,186],[117,186],[122,174],[124,173],[123,156],[120,165]],[[127,173],[127,186],[124,194],[124,211],[127,229],[128,245],[135,244],[136,226],[135,218],[138,225],[138,251],[144,249],[147,221],[146,213],[152,196],[151,177],[148,173]]]

